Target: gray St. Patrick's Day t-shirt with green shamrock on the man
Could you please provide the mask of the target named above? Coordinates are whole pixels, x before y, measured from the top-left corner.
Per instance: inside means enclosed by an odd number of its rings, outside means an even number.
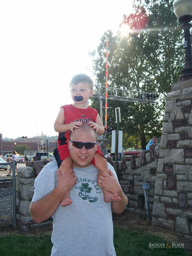
[[[114,173],[113,167],[108,168]],[[57,162],[48,163],[35,180],[32,202],[48,195],[57,186]],[[94,165],[73,168],[77,183],[70,191],[72,204],[59,206],[53,214],[51,256],[116,256],[113,245],[111,203],[104,201],[97,184]]]

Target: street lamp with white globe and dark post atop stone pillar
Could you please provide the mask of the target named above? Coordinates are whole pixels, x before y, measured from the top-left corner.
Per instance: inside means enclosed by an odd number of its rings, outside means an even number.
[[[185,66],[181,70],[179,82],[192,79],[192,46],[190,28],[192,24],[192,0],[175,0],[173,10],[184,30]]]

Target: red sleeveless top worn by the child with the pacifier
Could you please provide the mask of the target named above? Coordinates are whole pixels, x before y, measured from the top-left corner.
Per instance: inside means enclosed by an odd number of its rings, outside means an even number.
[[[96,122],[96,117],[97,117],[97,110],[88,107],[87,109],[77,109],[70,105],[64,105],[61,108],[64,110],[64,117],[65,117],[65,122],[66,123],[71,123],[71,122]],[[68,140],[70,139],[70,132],[67,131],[65,133],[59,133],[58,136],[58,146],[61,145],[67,145]]]

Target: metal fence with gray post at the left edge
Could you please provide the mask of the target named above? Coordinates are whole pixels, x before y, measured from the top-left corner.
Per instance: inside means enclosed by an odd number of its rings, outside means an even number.
[[[0,227],[16,226],[15,160],[1,162],[0,169]],[[10,175],[10,176],[9,176]]]

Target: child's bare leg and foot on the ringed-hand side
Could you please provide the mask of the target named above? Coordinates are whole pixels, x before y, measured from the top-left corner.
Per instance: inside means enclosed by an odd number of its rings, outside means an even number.
[[[95,154],[95,166],[97,169],[105,171],[106,173],[109,174],[107,160],[99,153]],[[103,194],[104,194],[105,202],[121,200],[121,198],[117,194],[112,194],[111,192],[108,192],[104,189],[103,189]]]

